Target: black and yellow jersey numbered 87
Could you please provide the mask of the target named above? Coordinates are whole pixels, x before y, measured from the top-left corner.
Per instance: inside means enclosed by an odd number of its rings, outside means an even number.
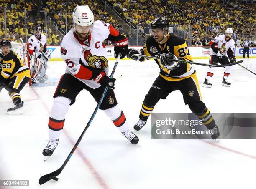
[[[149,37],[143,47],[144,55],[160,57],[163,53],[172,53],[181,60],[192,61],[186,41],[183,38],[174,35],[168,35],[167,38],[166,43],[160,45],[153,36]],[[145,59],[141,58],[140,60],[143,61]],[[180,81],[195,76],[196,74],[192,64],[178,63],[176,69],[167,70],[167,68],[160,63],[160,60],[154,60],[160,68],[160,76],[168,81]]]

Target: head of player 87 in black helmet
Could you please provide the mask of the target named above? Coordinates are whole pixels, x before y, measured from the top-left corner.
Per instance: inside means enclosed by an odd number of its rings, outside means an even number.
[[[154,36],[156,42],[162,43],[169,33],[169,21],[162,17],[156,18],[150,24],[150,34]]]

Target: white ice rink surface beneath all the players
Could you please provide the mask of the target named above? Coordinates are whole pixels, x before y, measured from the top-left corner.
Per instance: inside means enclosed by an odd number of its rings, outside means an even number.
[[[243,66],[256,72],[255,59],[243,60]],[[113,65],[111,60],[110,71]],[[256,113],[255,75],[235,65],[228,88],[222,86],[225,68],[219,68],[211,80],[212,88],[204,88],[208,67],[195,68],[202,100],[211,113]],[[57,81],[64,69],[62,61],[49,63],[49,80]],[[114,77],[123,77],[115,82],[115,95],[131,128],[158,74],[153,60],[118,63]],[[149,119],[136,133],[138,145],[132,145],[102,111],[97,112],[59,181],[39,185],[41,176],[63,164],[97,106],[89,92],[84,90],[77,96],[67,113],[59,145],[44,162],[42,150],[48,139],[55,89],[56,84],[25,86],[20,93],[25,113],[18,116],[6,114],[13,104],[7,91],[0,93],[0,180],[29,180],[29,187],[19,187],[24,189],[255,189],[256,139],[222,139],[219,143],[210,139],[151,139]],[[174,91],[159,101],[153,113],[191,111],[182,94]]]

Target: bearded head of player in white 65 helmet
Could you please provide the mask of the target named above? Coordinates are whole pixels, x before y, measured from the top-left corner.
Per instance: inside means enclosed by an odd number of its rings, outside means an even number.
[[[72,14],[74,31],[80,39],[86,39],[94,24],[94,16],[88,5],[78,6],[74,9]]]

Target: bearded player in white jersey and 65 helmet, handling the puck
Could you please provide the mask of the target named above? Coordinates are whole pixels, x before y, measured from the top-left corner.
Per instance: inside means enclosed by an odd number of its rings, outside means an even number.
[[[115,78],[110,79],[107,75],[108,58],[104,44],[104,40],[113,41],[115,58],[118,53],[121,53],[120,58],[124,58],[128,52],[128,39],[120,35],[112,25],[100,20],[94,22],[93,13],[87,5],[77,6],[72,17],[74,28],[64,36],[61,43],[61,56],[67,64],[66,73],[61,77],[54,93],[48,124],[49,142],[43,155],[51,156],[55,150],[65,115],[78,93],[85,89],[99,102],[106,86],[109,90],[100,109],[132,144],[137,144],[138,137],[128,128],[125,115],[117,106],[113,91]]]

